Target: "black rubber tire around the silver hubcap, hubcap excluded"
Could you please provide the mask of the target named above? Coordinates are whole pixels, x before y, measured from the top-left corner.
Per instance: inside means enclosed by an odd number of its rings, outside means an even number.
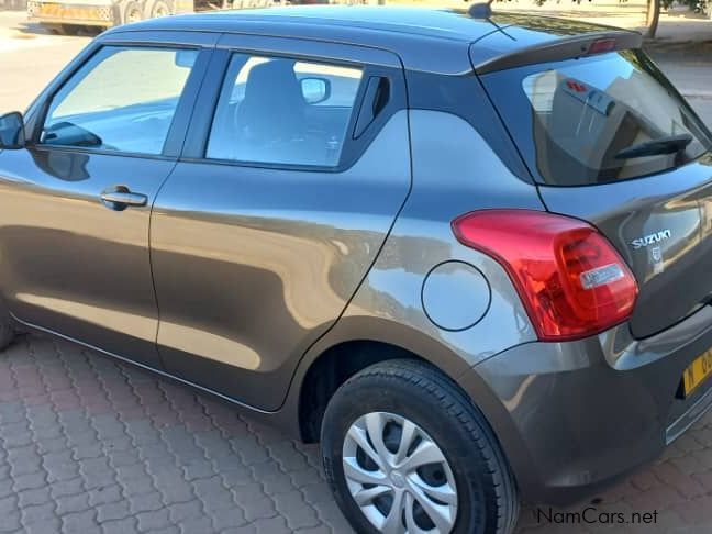
[[[371,412],[407,418],[442,449],[457,488],[453,533],[513,532],[520,508],[516,486],[485,416],[436,368],[414,360],[389,360],[361,370],[338,388],[326,408],[321,431],[324,470],[356,532],[378,531],[348,490],[343,446],[349,426]]]

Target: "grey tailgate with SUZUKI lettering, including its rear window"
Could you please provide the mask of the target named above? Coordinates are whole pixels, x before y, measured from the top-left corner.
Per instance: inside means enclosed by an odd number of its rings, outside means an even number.
[[[593,223],[632,268],[636,337],[709,302],[709,131],[645,54],[613,52],[481,79],[547,209]]]

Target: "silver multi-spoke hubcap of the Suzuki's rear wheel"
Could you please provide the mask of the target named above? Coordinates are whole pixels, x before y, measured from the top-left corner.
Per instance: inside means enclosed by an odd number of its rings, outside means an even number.
[[[387,412],[367,413],[346,432],[348,490],[385,534],[446,534],[457,519],[457,488],[445,455],[419,425]]]

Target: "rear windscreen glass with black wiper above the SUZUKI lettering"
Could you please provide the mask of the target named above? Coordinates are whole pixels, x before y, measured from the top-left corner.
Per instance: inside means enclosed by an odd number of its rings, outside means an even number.
[[[544,183],[648,176],[711,146],[704,125],[638,51],[520,67],[485,75],[482,82]]]

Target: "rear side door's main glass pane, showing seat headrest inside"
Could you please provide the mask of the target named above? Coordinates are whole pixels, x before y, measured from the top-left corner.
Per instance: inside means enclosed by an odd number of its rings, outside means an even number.
[[[358,67],[234,54],[205,156],[335,167],[361,78]]]

